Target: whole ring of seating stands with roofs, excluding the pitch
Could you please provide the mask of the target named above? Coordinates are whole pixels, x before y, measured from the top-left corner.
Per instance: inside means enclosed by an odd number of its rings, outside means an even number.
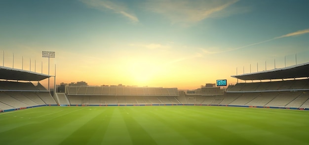
[[[7,73],[24,73],[25,77]],[[251,83],[231,85],[225,92],[220,87],[201,88],[196,94],[186,94],[177,88],[65,86],[65,93],[56,93],[53,98],[39,83],[40,79],[50,76],[5,67],[0,67],[1,74],[0,110],[57,104],[221,105],[309,109],[309,63],[232,76]],[[38,85],[35,86],[31,81],[38,81]]]

